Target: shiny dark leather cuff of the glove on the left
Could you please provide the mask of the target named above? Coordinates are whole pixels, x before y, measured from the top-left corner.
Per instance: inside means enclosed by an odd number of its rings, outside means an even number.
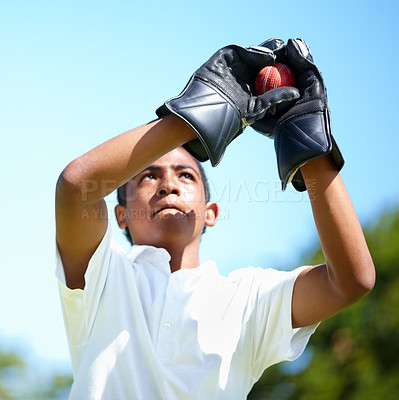
[[[238,109],[222,92],[192,77],[183,92],[156,110],[158,117],[173,113],[197,134],[184,148],[199,161],[219,164],[227,145],[242,133]]]

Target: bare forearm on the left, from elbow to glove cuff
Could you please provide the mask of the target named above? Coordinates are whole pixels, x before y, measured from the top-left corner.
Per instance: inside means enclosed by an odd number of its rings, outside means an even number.
[[[58,192],[76,201],[96,202],[167,152],[195,139],[194,131],[168,115],[97,146],[62,172]]]

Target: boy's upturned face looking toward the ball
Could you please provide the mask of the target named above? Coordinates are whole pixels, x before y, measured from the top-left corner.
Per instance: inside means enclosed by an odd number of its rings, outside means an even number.
[[[210,225],[201,173],[182,148],[155,161],[126,189],[126,225],[135,244],[165,247],[199,240],[204,225]]]

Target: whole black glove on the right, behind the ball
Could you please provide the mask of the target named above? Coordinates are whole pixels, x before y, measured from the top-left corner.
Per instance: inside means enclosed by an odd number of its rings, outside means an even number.
[[[263,45],[270,48],[268,42]],[[282,189],[292,181],[298,191],[306,190],[300,167],[306,162],[331,154],[340,170],[342,154],[332,136],[327,92],[320,71],[313,63],[309,47],[302,39],[289,40],[287,45],[272,48],[276,60],[287,64],[297,78],[301,97],[278,119],[263,119],[253,128],[274,137]]]

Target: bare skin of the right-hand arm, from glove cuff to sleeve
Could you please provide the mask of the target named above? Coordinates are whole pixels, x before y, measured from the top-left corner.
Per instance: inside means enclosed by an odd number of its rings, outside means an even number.
[[[292,300],[294,327],[336,314],[364,296],[375,281],[360,223],[330,157],[309,161],[301,172],[326,264],[298,276]]]

